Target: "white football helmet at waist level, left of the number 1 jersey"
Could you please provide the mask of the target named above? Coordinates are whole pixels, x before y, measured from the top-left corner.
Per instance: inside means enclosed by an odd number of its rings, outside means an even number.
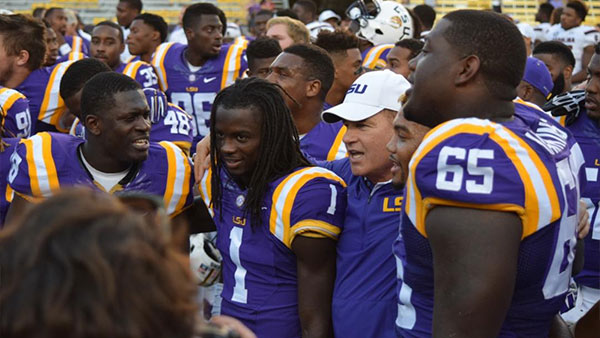
[[[204,234],[190,236],[190,265],[198,285],[210,286],[221,276],[221,253]]]

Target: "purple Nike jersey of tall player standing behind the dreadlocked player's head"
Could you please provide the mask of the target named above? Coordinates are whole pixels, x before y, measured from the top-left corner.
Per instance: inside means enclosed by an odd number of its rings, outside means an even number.
[[[194,117],[194,141],[197,142],[208,134],[210,110],[217,93],[241,77],[248,66],[241,45],[223,45],[218,56],[194,72],[185,59],[187,48],[180,43],[161,44],[154,52],[152,66],[169,102]]]

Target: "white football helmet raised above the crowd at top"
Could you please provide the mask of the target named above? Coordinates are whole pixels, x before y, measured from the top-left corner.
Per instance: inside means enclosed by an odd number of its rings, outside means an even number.
[[[358,0],[348,7],[346,15],[356,35],[373,45],[396,43],[414,35],[410,13],[396,1]]]

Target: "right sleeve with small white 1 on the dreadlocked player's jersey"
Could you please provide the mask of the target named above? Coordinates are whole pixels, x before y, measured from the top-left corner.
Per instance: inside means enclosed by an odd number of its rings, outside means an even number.
[[[346,198],[346,183],[329,170],[309,167],[290,174],[273,194],[271,233],[288,248],[296,236],[337,240]]]

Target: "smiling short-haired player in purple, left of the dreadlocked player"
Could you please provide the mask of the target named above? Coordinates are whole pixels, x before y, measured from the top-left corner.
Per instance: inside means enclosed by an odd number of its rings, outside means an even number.
[[[139,84],[115,72],[95,75],[83,88],[81,117],[85,139],[38,133],[19,144],[10,161],[15,197],[7,220],[66,187],[86,186],[160,196],[173,228],[187,229],[191,163],[175,144],[150,142],[149,107]],[[184,248],[187,239],[177,238],[172,241]]]

